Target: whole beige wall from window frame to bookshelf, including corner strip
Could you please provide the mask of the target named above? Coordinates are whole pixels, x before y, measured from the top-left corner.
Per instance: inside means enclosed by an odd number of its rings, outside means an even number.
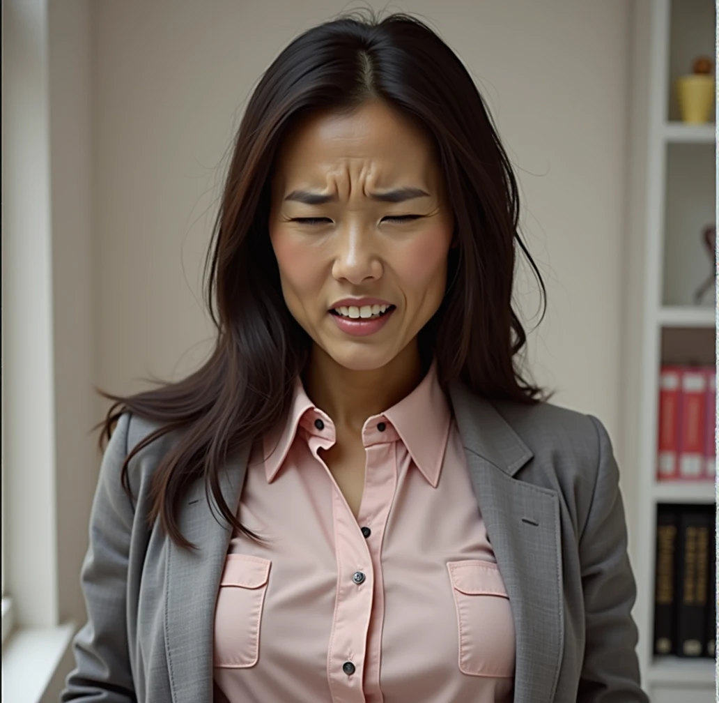
[[[249,91],[301,29],[357,4],[70,4],[74,19],[51,3],[48,30],[56,377],[47,436],[58,437],[59,609],[81,619],[77,574],[99,467],[83,433],[106,408],[95,402],[91,417],[90,383],[127,393],[144,387],[139,377],[176,378],[201,363],[211,334],[203,255]],[[523,231],[549,291],[546,318],[529,335],[531,365],[559,390],[554,402],[603,419],[621,460],[628,1],[417,0],[390,9],[429,19],[477,78],[516,165]],[[522,278],[517,299],[536,324],[533,279]],[[22,352],[14,347],[15,358]],[[631,506],[631,467],[623,485]],[[10,517],[16,530],[28,519],[20,509]]]

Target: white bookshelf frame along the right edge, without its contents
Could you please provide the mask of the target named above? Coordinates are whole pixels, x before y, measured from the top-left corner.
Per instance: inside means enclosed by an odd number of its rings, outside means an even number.
[[[713,504],[711,481],[656,480],[661,363],[715,363],[713,300],[692,294],[713,262],[700,240],[715,222],[715,124],[683,124],[674,81],[715,56],[714,0],[636,0],[631,66],[623,483],[628,486],[633,615],[642,683],[653,703],[712,703],[715,661],[655,657],[654,550],[660,503]]]

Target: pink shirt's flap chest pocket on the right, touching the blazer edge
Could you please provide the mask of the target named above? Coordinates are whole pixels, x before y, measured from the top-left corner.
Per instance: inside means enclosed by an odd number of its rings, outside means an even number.
[[[513,676],[514,620],[496,564],[450,561],[449,581],[459,626],[459,671],[471,676]]]

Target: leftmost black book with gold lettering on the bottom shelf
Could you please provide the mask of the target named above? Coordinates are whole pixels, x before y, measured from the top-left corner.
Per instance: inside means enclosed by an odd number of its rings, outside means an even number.
[[[677,554],[677,508],[659,505],[656,512],[654,566],[654,653],[671,654],[674,645],[674,595]]]

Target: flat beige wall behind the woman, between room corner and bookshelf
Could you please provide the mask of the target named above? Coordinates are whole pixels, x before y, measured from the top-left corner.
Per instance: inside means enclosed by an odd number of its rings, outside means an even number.
[[[93,6],[100,384],[139,389],[137,376],[180,376],[201,361],[210,333],[198,303],[202,255],[244,101],[293,36],[357,6]],[[429,19],[477,79],[516,166],[523,232],[549,291],[544,322],[529,335],[531,364],[558,389],[554,402],[603,419],[621,458],[630,3],[414,0],[390,9]],[[516,297],[536,325],[533,278],[522,277]]]

